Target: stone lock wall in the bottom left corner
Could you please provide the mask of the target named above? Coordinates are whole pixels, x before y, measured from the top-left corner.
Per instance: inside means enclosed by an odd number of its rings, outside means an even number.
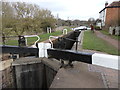
[[[11,66],[13,59],[10,59],[9,56],[9,54],[4,54],[1,57],[0,88],[14,88],[13,71]]]

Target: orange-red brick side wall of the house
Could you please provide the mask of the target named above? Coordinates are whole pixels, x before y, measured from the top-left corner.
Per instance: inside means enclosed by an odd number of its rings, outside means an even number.
[[[118,26],[120,21],[120,8],[107,8],[106,10],[106,28],[111,26]]]

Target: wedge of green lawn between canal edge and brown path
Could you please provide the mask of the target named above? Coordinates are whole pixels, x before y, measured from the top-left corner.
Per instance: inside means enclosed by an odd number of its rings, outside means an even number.
[[[91,31],[84,32],[82,47],[83,49],[96,50],[96,51],[106,52],[112,55],[118,55],[118,50],[116,48],[108,44],[106,41],[98,38]]]

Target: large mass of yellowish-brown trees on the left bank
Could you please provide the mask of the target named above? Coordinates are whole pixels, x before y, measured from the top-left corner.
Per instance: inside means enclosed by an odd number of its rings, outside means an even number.
[[[3,32],[23,35],[28,32],[40,33],[47,26],[54,28],[55,19],[50,10],[37,5],[14,2],[3,3]],[[12,35],[12,34],[11,34]]]

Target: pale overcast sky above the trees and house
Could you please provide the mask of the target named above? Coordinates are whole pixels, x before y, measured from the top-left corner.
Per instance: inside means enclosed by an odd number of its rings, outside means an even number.
[[[109,4],[119,0],[3,0],[29,2],[46,8],[54,16],[67,20],[88,20],[90,17],[99,18],[99,11],[105,7],[105,2]]]

